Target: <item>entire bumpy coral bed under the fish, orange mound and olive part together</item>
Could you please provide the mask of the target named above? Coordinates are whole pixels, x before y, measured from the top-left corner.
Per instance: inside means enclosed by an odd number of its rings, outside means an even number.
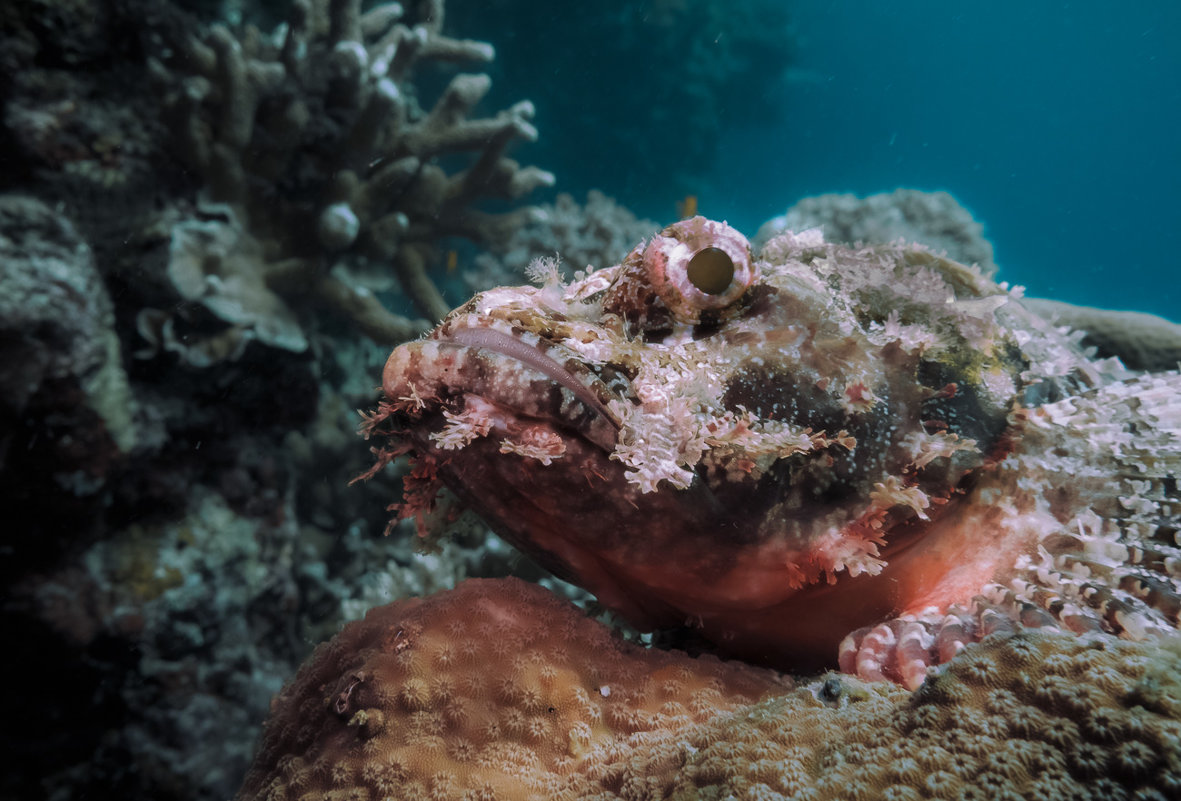
[[[914,693],[645,650],[515,579],[373,610],[276,698],[247,799],[1164,799],[1175,642],[993,634]]]

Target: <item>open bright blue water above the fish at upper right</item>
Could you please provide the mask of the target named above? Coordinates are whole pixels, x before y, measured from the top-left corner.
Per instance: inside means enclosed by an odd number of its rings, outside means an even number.
[[[727,129],[704,214],[946,189],[1030,295],[1181,320],[1181,4],[791,7],[787,119]]]

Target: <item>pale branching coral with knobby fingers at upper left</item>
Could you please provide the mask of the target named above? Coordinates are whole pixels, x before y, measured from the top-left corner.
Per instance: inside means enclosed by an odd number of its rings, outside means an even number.
[[[172,230],[169,278],[183,300],[286,350],[307,346],[299,311],[315,305],[400,341],[423,324],[387,311],[359,267],[392,263],[418,313],[437,319],[446,304],[426,269],[436,242],[491,242],[530,219],[528,208],[476,207],[553,182],[504,155],[536,138],[531,104],[474,117],[490,79],[461,73],[420,108],[411,78],[422,65],[489,61],[494,51],[444,35],[442,0],[415,12],[301,0],[270,37],[224,25],[163,34],[150,66],[165,124],[221,204]],[[141,328],[167,343],[149,314]]]

